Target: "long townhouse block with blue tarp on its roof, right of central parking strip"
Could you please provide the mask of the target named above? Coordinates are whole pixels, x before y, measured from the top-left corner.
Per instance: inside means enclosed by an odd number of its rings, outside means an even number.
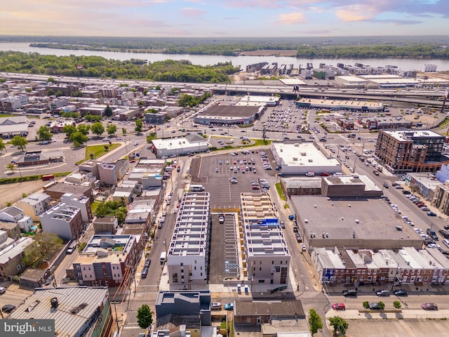
[[[290,251],[268,193],[241,193],[243,259],[252,284],[288,284]]]

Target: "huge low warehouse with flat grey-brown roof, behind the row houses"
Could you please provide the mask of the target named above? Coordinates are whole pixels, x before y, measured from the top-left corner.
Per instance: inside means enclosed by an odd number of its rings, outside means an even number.
[[[421,249],[423,239],[381,199],[292,196],[290,206],[307,249]]]

